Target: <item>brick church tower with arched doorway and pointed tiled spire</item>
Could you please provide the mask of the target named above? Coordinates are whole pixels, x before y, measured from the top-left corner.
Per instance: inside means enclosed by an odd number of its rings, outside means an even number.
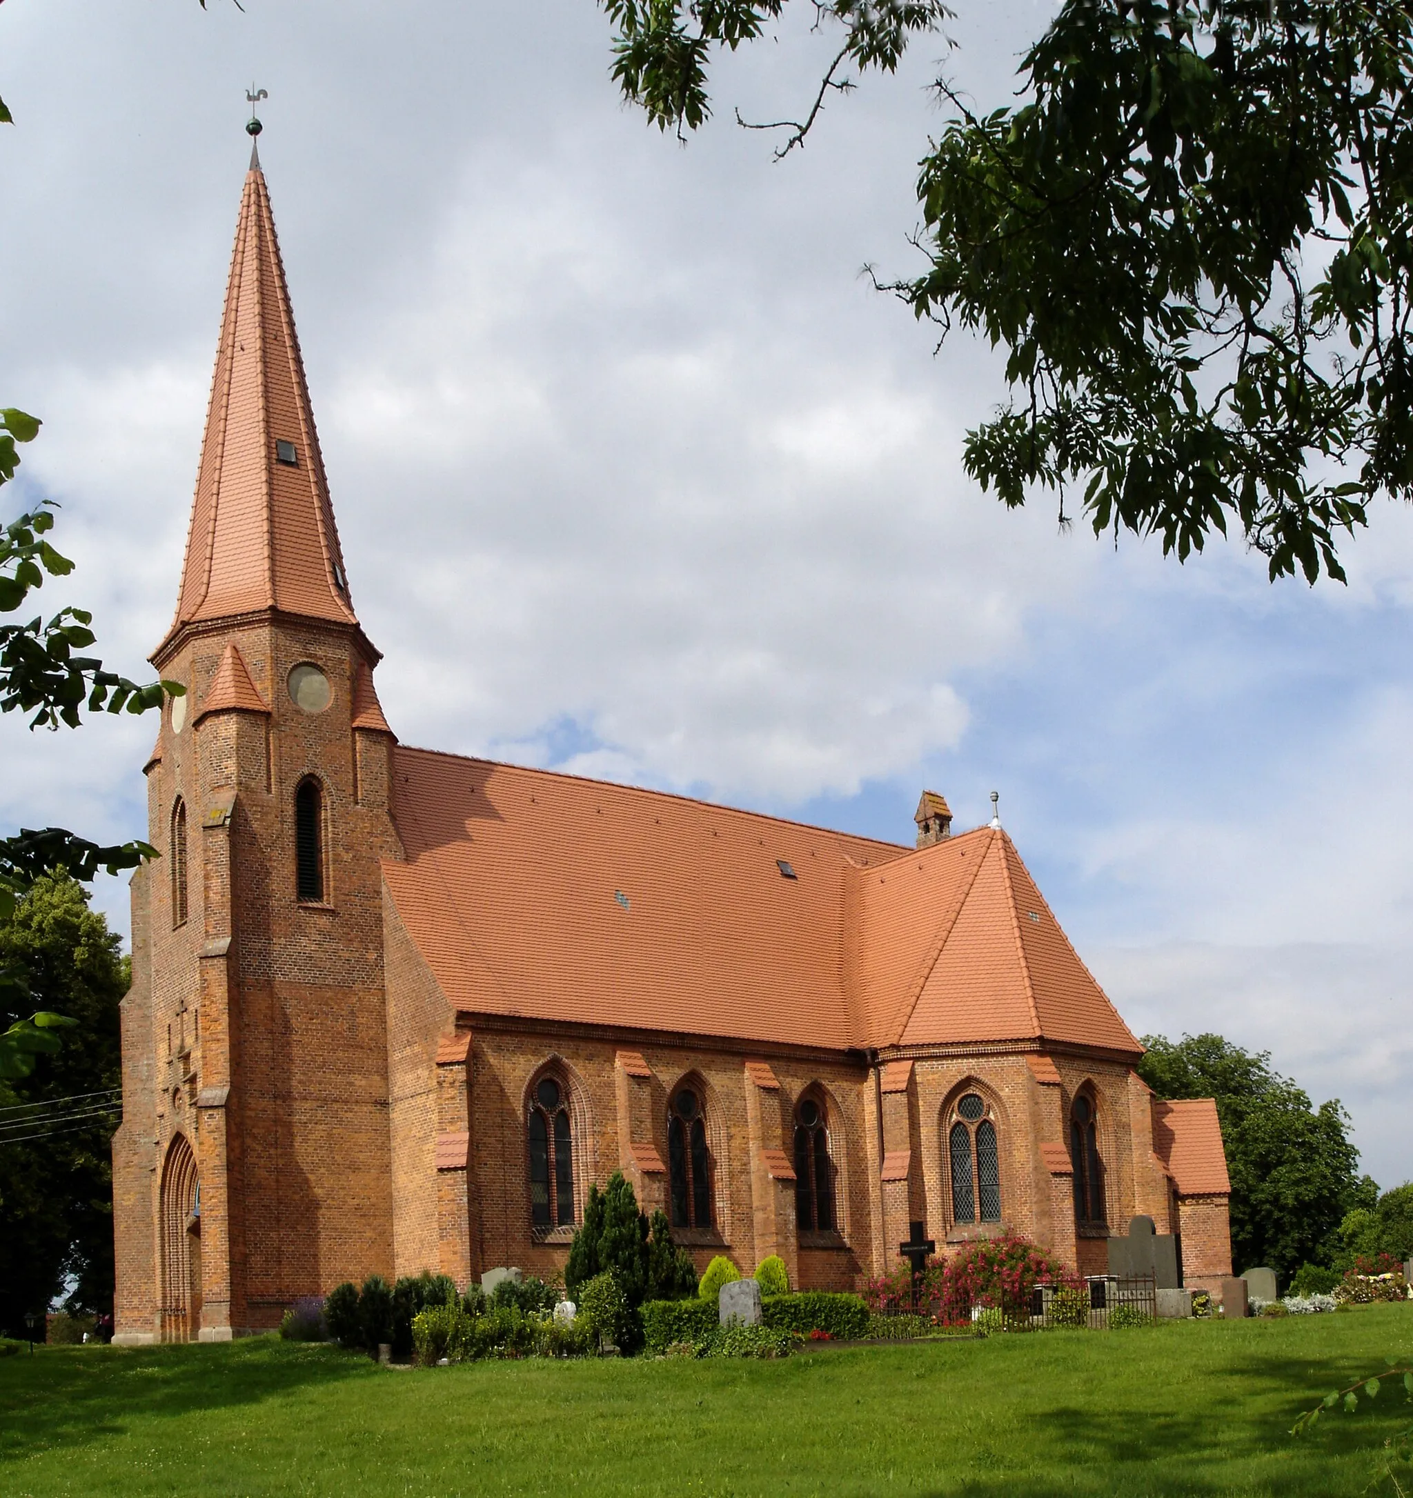
[[[394,739],[354,611],[252,153],[177,613],[186,695],[132,882],[121,1342],[223,1341],[393,1266],[379,860]]]

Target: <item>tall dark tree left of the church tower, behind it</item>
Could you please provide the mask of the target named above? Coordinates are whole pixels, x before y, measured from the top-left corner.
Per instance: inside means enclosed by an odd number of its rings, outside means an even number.
[[[63,1050],[13,1079],[0,1112],[0,1329],[24,1333],[75,1279],[75,1311],[112,1305],[112,1174],[118,1001],[127,963],[118,938],[66,875],[42,875],[0,918],[0,962],[75,1022]],[[0,1025],[15,1011],[0,996]]]

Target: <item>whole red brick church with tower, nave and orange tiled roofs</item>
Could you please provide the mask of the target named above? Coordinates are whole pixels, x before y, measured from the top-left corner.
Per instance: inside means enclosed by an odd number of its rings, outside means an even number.
[[[120,1342],[343,1279],[563,1267],[622,1170],[698,1266],[854,1287],[922,1224],[1230,1273],[1211,1101],[1142,1047],[993,819],[916,845],[411,749],[349,577],[258,159],[132,882]],[[910,834],[911,836],[911,834]]]

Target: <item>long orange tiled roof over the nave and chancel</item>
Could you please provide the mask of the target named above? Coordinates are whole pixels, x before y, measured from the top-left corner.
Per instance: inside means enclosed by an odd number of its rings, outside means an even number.
[[[1142,1047],[999,828],[923,849],[396,750],[384,878],[450,1004],[770,1044]]]

